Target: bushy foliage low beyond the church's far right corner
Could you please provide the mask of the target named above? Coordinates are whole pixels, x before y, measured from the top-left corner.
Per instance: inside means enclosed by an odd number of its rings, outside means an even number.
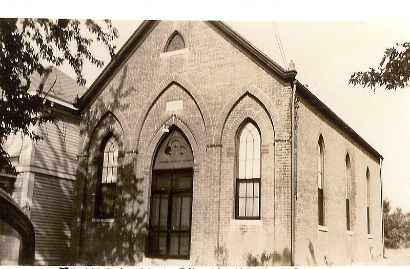
[[[410,213],[401,208],[392,211],[388,199],[383,200],[384,244],[388,249],[410,247]]]

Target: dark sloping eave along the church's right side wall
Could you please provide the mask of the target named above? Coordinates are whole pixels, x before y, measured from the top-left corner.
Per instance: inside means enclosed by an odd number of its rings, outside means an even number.
[[[297,81],[296,93],[301,95],[305,100],[309,102],[313,107],[320,111],[325,117],[334,122],[340,127],[347,135],[358,142],[365,150],[378,159],[383,159],[383,156],[377,152],[370,144],[366,142],[360,135],[358,135],[350,126],[347,125],[335,112],[327,107],[319,98],[317,98],[312,92],[308,90],[304,85]]]

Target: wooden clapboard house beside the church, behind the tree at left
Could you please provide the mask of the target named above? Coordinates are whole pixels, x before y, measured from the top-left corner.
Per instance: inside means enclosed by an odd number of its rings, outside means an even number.
[[[34,226],[35,264],[67,264],[80,122],[72,104],[86,88],[54,68],[47,77],[33,76],[30,88],[32,94],[42,89],[57,120],[33,127],[43,137],[37,142],[22,135],[7,139],[5,147],[20,174],[2,175],[1,183]]]

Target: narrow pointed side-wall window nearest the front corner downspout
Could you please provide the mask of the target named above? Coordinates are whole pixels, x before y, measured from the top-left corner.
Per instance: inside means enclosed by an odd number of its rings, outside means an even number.
[[[318,183],[318,220],[319,225],[324,226],[324,143],[323,137],[319,137],[317,144],[317,183]]]

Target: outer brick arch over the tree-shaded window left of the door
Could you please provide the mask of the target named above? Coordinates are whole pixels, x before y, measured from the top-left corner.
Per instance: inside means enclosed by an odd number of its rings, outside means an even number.
[[[87,116],[88,115],[86,115],[85,117]],[[85,134],[83,147],[81,148],[81,152],[83,152],[83,154],[87,154],[89,152],[91,146],[90,140],[93,138],[98,128],[100,128],[99,126],[101,125],[101,122],[107,119],[114,120],[118,123],[118,126],[116,127],[118,129],[118,134],[121,134],[121,136],[122,134],[127,134],[127,137],[129,137],[129,139],[124,141],[124,150],[131,149],[131,130],[128,126],[126,118],[121,113],[121,111],[115,108],[110,109],[109,107],[105,107],[103,110],[99,110],[91,120],[87,120],[87,118],[85,120],[87,122],[86,124],[88,127],[86,128],[88,132]]]

